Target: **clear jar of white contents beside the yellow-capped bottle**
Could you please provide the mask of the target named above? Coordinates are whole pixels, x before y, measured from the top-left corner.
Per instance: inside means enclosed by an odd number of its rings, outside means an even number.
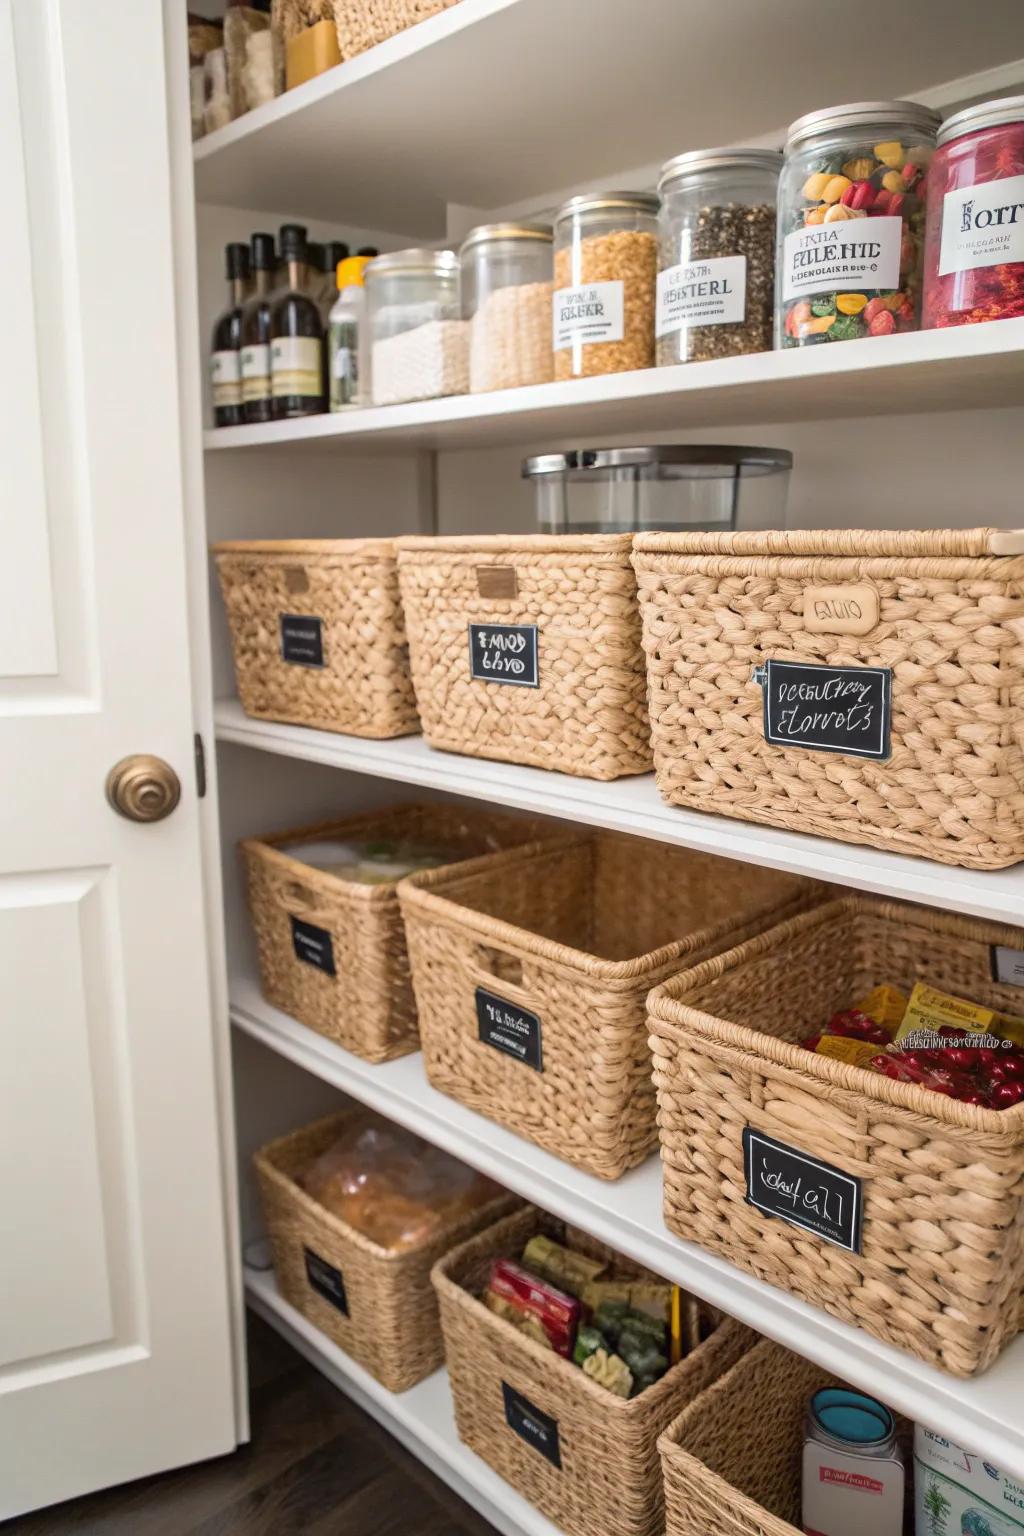
[[[375,406],[465,395],[470,327],[459,310],[453,250],[393,250],[364,273],[368,398]]]

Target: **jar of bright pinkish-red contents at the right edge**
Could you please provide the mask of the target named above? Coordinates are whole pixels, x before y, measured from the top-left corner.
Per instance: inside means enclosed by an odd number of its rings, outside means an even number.
[[[1024,97],[947,118],[929,189],[926,330],[1024,315]]]

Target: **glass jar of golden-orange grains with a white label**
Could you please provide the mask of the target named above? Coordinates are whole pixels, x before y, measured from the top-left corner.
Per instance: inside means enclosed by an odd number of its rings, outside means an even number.
[[[654,366],[657,198],[596,192],[554,221],[554,376]]]

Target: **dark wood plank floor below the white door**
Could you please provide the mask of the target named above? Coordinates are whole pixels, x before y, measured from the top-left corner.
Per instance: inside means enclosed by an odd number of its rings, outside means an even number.
[[[9,1521],[3,1536],[494,1536],[249,1313],[252,1441],[233,1456]]]

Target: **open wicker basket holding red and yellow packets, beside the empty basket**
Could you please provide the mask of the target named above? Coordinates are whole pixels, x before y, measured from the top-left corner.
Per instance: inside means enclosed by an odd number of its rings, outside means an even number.
[[[1024,1324],[1024,1104],[979,1109],[794,1041],[880,982],[1019,1014],[992,945],[1019,951],[1024,932],[847,897],[649,998],[668,1227],[955,1376]],[[861,1181],[844,1186],[860,1250],[748,1203],[745,1127]]]

